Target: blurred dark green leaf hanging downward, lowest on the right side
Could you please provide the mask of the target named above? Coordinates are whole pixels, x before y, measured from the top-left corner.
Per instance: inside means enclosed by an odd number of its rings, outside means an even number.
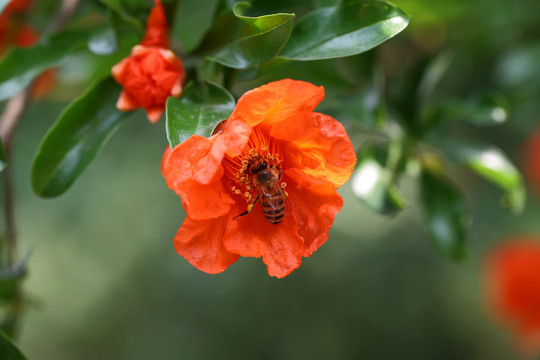
[[[465,232],[469,215],[461,193],[445,177],[424,170],[420,198],[435,248],[449,259],[463,259],[467,253]]]

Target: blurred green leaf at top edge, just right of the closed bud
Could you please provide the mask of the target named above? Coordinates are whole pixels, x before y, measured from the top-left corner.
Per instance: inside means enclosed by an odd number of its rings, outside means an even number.
[[[178,36],[184,51],[197,48],[212,26],[219,0],[183,0],[172,33]]]

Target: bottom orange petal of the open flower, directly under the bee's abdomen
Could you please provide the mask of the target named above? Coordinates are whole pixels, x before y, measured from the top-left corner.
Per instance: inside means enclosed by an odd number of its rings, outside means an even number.
[[[233,207],[232,215],[245,210],[245,203]],[[293,216],[288,215],[277,225],[270,224],[262,215],[258,204],[248,215],[229,218],[223,237],[225,248],[235,254],[249,257],[262,256],[268,274],[282,278],[302,263],[303,239]]]

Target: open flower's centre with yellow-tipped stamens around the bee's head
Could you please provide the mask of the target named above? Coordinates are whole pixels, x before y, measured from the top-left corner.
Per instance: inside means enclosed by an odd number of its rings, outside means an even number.
[[[234,194],[243,197],[248,204],[253,204],[259,195],[261,172],[265,173],[264,177],[269,177],[268,182],[275,182],[278,186],[285,187],[285,183],[279,181],[282,162],[275,141],[268,133],[256,126],[239,156],[225,156],[224,178],[230,184],[230,189]],[[256,176],[258,176],[258,181]]]

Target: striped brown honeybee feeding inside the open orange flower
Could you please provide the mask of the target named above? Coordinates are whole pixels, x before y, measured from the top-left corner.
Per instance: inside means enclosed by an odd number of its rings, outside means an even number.
[[[263,216],[270,224],[279,224],[285,216],[285,201],[287,194],[279,184],[282,171],[277,165],[268,165],[264,159],[259,159],[251,164],[248,171],[253,175],[253,185],[258,192],[258,196],[248,206],[248,209],[237,215],[244,216],[249,214],[255,203],[260,200]]]

